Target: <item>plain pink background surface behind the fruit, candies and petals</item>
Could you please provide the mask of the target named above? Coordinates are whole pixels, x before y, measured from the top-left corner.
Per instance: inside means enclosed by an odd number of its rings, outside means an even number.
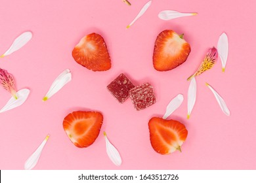
[[[131,7],[121,0],[1,0],[0,54],[24,31],[32,31],[33,38],[0,59],[0,67],[14,76],[16,88],[31,90],[24,105],[0,114],[0,169],[23,169],[48,133],[51,137],[34,169],[256,169],[256,1],[155,0],[126,29],[148,0],[130,2]],[[158,13],[165,9],[198,15],[163,21]],[[152,52],[164,29],[184,33],[192,51],[180,67],[158,72],[152,66]],[[186,78],[196,71],[208,48],[217,46],[223,31],[230,46],[226,72],[221,72],[219,60],[198,76],[197,101],[187,120]],[[75,44],[92,32],[106,41],[112,59],[109,71],[94,73],[72,58]],[[72,71],[72,81],[49,101],[41,101],[64,69]],[[130,99],[119,104],[106,86],[120,73],[135,84],[150,82],[157,103],[139,112]],[[221,111],[205,82],[224,98],[230,116]],[[148,120],[162,116],[178,93],[184,95],[184,102],[170,118],[186,125],[188,137],[182,153],[161,156],[150,145]],[[0,96],[3,107],[11,95],[0,88]],[[74,110],[99,110],[104,115],[100,135],[89,148],[75,147],[62,128],[64,117]],[[121,154],[120,167],[106,154],[103,131]]]

